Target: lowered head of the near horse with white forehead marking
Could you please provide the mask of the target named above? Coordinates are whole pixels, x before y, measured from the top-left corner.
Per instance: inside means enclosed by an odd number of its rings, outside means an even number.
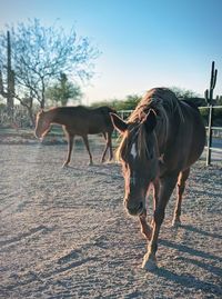
[[[142,121],[129,123],[117,114],[111,114],[111,119],[122,134],[118,158],[122,163],[125,182],[124,205],[130,215],[141,215],[145,209],[149,186],[159,170],[157,138],[153,132],[157,114],[150,110]]]

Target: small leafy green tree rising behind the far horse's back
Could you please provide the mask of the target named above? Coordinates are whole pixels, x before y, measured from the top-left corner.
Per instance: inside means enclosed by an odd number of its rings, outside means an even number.
[[[80,87],[69,81],[65,73],[60,73],[59,82],[56,82],[46,91],[46,97],[54,106],[67,106],[69,100],[80,102],[82,96]]]

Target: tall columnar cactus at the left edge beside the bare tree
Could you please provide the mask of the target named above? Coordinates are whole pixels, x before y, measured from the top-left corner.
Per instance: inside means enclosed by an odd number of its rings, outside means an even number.
[[[7,99],[7,109],[10,120],[13,118],[14,71],[11,69],[11,41],[7,31],[7,91],[4,91],[2,70],[0,69],[0,94]]]

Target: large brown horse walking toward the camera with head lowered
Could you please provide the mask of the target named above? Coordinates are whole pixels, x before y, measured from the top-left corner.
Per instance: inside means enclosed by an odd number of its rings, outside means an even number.
[[[157,267],[155,252],[167,203],[178,185],[173,223],[180,223],[181,201],[194,163],[205,143],[205,129],[196,108],[179,101],[165,88],[148,91],[124,122],[111,114],[114,127],[123,138],[118,156],[125,181],[124,205],[132,216],[139,216],[141,231],[150,241],[142,267]],[[153,187],[152,229],[147,223],[145,197]]]

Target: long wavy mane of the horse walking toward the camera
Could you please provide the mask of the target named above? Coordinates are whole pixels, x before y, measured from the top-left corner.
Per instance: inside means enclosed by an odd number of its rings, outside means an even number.
[[[123,138],[117,150],[117,157],[119,160],[123,158],[125,148],[130,147],[130,144],[134,142],[135,138],[139,155],[141,157],[151,156],[149,144],[147,142],[147,130],[143,123],[151,109],[154,111],[158,119],[155,138],[157,134],[161,134],[160,139],[162,139],[163,143],[168,140],[170,118],[176,112],[180,121],[183,121],[180,102],[170,89],[154,88],[149,90],[128,119],[129,130],[125,133],[125,137],[129,138]]]

